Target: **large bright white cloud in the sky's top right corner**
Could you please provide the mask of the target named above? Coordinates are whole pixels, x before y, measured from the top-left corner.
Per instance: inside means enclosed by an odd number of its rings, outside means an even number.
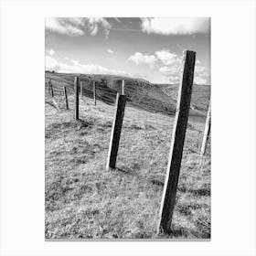
[[[210,28],[208,17],[145,17],[141,19],[142,31],[147,34],[192,35],[207,34]]]

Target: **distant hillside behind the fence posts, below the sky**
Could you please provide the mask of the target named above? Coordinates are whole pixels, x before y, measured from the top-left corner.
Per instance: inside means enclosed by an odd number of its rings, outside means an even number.
[[[46,72],[46,79],[52,79],[69,85],[69,89],[73,89],[73,81],[75,76],[79,76],[83,81],[82,93],[88,97],[92,97],[92,83],[86,81],[97,81],[97,97],[99,100],[114,104],[116,92],[121,92],[121,84],[118,80],[125,80],[125,94],[127,96],[127,104],[134,107],[144,109],[149,112],[163,112],[173,115],[176,112],[176,96],[178,84],[154,84],[147,80],[134,79],[130,77],[115,75],[85,75],[85,74],[60,74]],[[59,84],[60,85],[60,84]],[[208,99],[210,86],[194,85],[191,100],[191,116],[205,116],[208,110]]]

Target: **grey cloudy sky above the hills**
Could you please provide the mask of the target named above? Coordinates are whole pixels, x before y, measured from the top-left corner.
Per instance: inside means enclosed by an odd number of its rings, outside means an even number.
[[[210,84],[208,17],[48,17],[46,69],[178,83],[183,51],[197,52],[194,82]]]

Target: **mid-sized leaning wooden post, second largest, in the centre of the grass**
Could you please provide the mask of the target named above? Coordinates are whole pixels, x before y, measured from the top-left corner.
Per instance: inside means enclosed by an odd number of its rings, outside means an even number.
[[[120,135],[122,131],[123,115],[125,109],[126,96],[116,94],[116,102],[114,109],[114,118],[112,123],[111,142],[109,147],[109,154],[107,159],[106,169],[115,167]]]

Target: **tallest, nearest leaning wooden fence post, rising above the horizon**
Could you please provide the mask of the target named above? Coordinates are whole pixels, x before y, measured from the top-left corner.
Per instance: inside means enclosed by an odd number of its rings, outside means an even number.
[[[171,232],[171,223],[176,203],[176,188],[178,183],[183,145],[185,141],[187,119],[194,79],[196,52],[185,51],[183,77],[180,80],[178,98],[176,102],[176,117],[172,133],[170,155],[168,158],[165,186],[159,212],[157,232]]]

